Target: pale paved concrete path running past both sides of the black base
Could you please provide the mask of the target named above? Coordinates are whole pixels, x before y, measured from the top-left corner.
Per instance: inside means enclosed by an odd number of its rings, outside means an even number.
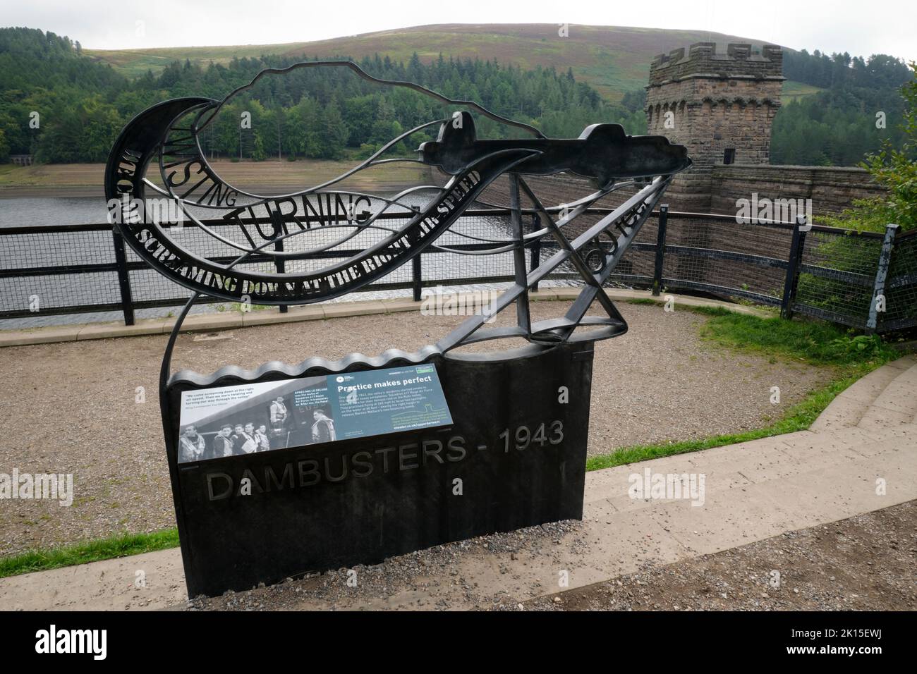
[[[915,414],[917,358],[908,356],[857,381],[808,431],[588,473],[583,526],[552,550],[557,554],[470,555],[454,568],[415,579],[414,586],[429,581],[441,600],[458,571],[478,583],[479,595],[503,591],[525,601],[556,593],[561,569],[574,589],[646,563],[719,552],[917,499]],[[702,474],[703,504],[631,498],[631,476],[646,470]],[[573,538],[582,545],[563,545]],[[134,586],[138,569],[146,574],[142,589]],[[423,591],[401,591],[335,607],[431,607],[428,600]],[[467,602],[459,589],[447,601],[453,608]],[[168,608],[184,602],[177,549],[0,580],[0,606],[7,610]],[[330,608],[317,600],[301,606]]]

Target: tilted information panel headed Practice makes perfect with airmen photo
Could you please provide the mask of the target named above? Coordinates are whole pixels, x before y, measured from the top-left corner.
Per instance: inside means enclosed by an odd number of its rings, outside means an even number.
[[[452,425],[433,364],[182,392],[179,463]]]

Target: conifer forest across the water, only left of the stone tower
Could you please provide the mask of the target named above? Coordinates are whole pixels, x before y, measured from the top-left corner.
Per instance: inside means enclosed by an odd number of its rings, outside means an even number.
[[[148,72],[128,81],[79,52],[77,44],[50,33],[0,29],[5,154],[31,152],[45,162],[104,161],[121,127],[148,105],[185,95],[222,98],[264,68],[301,61],[265,56],[206,68],[175,61],[158,76]],[[603,101],[569,71],[523,71],[445,56],[424,64],[416,55],[407,63],[367,57],[360,65],[383,79],[477,101],[548,136],[575,137],[596,120],[621,122],[631,133],[646,130],[642,110]],[[204,141],[215,155],[254,160],[366,156],[403,130],[440,118],[439,108],[432,99],[365,83],[346,69],[302,70],[267,78],[234,98]],[[29,127],[32,111],[39,113],[38,128]],[[250,113],[250,128],[240,129],[242,112]]]

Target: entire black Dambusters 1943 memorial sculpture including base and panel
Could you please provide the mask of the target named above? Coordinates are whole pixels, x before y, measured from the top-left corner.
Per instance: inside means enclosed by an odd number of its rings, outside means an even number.
[[[296,193],[260,195],[222,179],[202,143],[221,108],[265,75],[310,68],[348,69],[366,82],[407,88],[436,99],[448,113],[393,138],[350,171]],[[478,138],[475,115],[525,138]],[[435,128],[436,138],[420,143],[415,158],[384,157]],[[435,167],[447,182],[394,196],[336,188],[359,171],[397,160]],[[631,137],[620,125],[595,124],[580,138],[546,138],[481,105],[379,80],[350,61],[269,69],[222,100],[166,101],[129,122],[105,169],[116,236],[193,291],[160,372],[189,596],[581,517],[592,343],[627,329],[602,284],[672,176],[690,166],[686,149],[661,136]],[[148,178],[152,167],[158,181]],[[542,204],[525,176],[560,171],[587,179],[593,192],[569,204]],[[508,236],[460,235],[478,244],[473,250],[442,243],[503,175]],[[623,204],[568,236],[570,224],[592,204],[624,187],[634,193]],[[408,196],[423,204],[409,207]],[[151,197],[178,204],[182,227],[149,216],[144,204]],[[532,231],[522,224],[523,198],[539,218]],[[322,202],[328,214],[316,218]],[[331,204],[345,215],[331,215]],[[200,214],[211,211],[222,214],[224,227],[204,222]],[[392,225],[382,217],[386,212],[403,217]],[[193,237],[181,231],[188,229]],[[557,252],[527,269],[525,249],[542,238],[556,241]],[[345,244],[361,249],[315,268],[316,255]],[[588,264],[584,253],[597,246],[601,258]],[[390,349],[295,366],[269,362],[253,371],[171,373],[182,321],[201,297],[281,306],[322,302],[378,281],[425,249],[511,254],[514,282],[480,315],[414,353]],[[561,265],[580,274],[581,293],[564,315],[533,321],[528,292]],[[587,315],[592,304],[602,315]],[[510,305],[514,325],[488,325]],[[503,338],[525,346],[496,350],[494,341],[495,350],[462,349]]]

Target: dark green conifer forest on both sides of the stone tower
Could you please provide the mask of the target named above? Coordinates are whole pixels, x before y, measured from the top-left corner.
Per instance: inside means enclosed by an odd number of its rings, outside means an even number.
[[[43,162],[105,161],[120,129],[148,105],[183,95],[222,98],[265,67],[302,60],[277,53],[205,64],[186,58],[171,61],[158,74],[128,79],[108,63],[83,55],[79,42],[38,29],[0,28],[0,161],[9,154],[33,154]],[[477,101],[551,137],[577,136],[597,121],[646,132],[642,89],[621,92],[615,99],[620,103],[611,103],[569,67],[525,69],[447,53],[432,60],[414,53],[404,61],[376,54],[359,63],[384,79],[422,83]],[[784,73],[793,83],[823,91],[795,96],[780,109],[772,163],[853,166],[877,151],[883,139],[900,146],[899,89],[910,79],[902,61],[786,50]],[[250,113],[250,128],[240,129],[242,112]],[[442,112],[432,101],[418,103],[410,92],[372,87],[340,72],[294,72],[234,99],[204,143],[208,153],[229,158],[365,157]],[[878,112],[884,113],[884,128],[877,128]],[[482,130],[493,129],[485,124]]]

